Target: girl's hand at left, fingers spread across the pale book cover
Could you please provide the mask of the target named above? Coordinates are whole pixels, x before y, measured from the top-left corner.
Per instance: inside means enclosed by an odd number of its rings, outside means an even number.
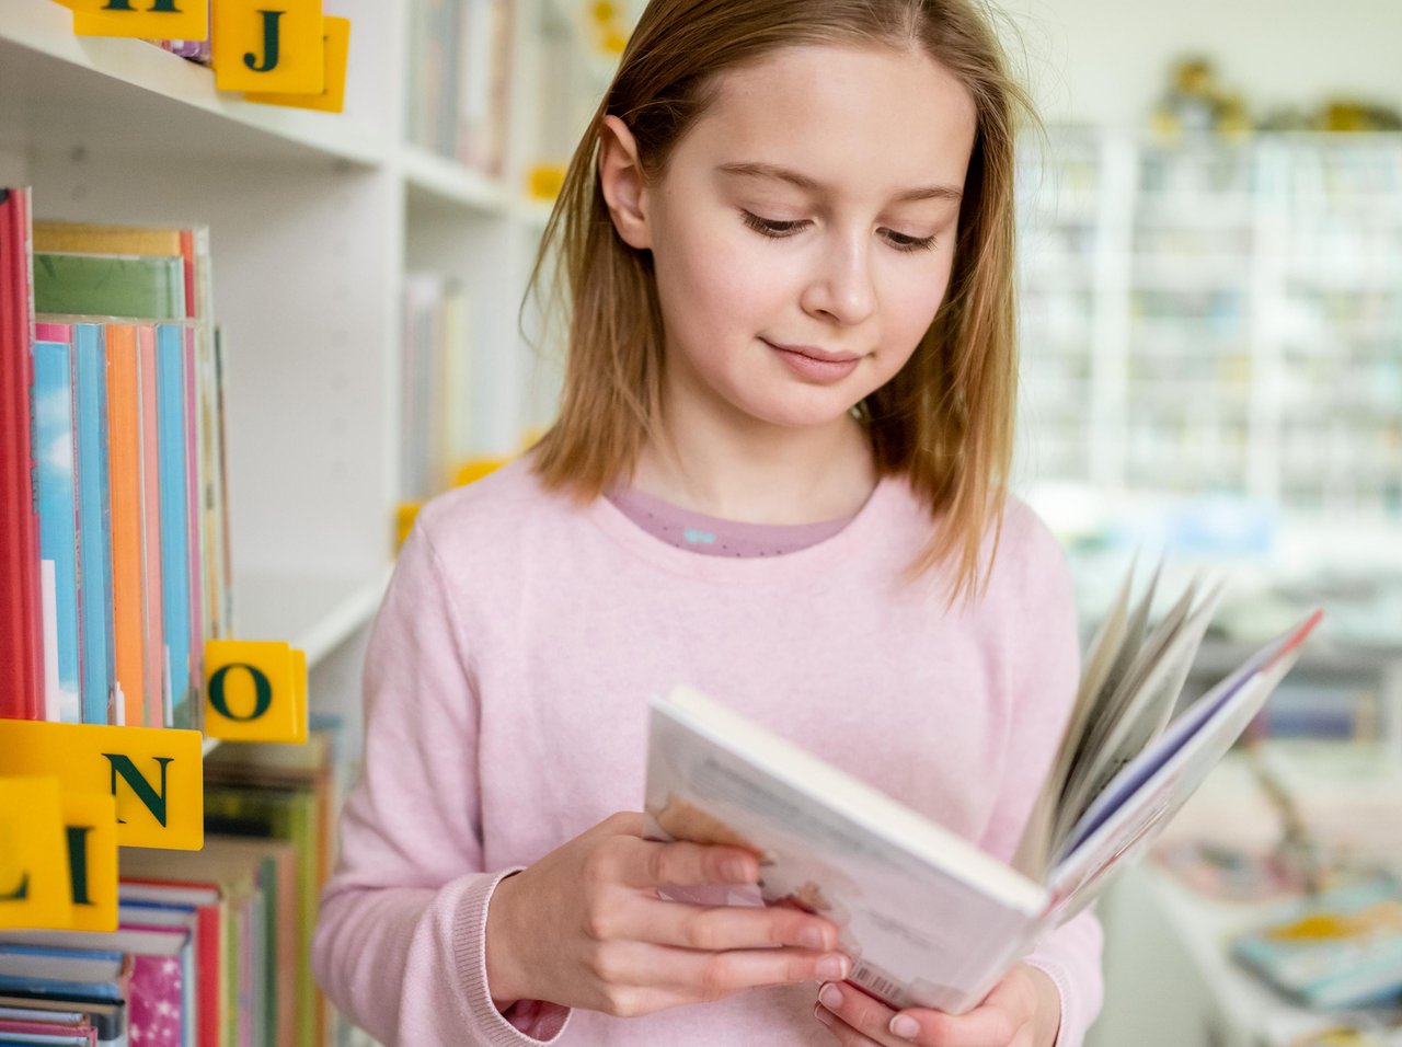
[[[642,828],[641,813],[614,814],[496,886],[486,984],[498,1008],[541,999],[635,1016],[847,977],[827,919],[660,898],[663,886],[753,884],[758,862],[736,847],[644,840]]]

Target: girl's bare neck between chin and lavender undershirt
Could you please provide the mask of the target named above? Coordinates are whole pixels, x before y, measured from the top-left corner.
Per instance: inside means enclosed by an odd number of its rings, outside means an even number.
[[[876,486],[861,422],[760,426],[737,432],[704,419],[669,419],[644,447],[632,485],[723,520],[808,524],[850,517]]]

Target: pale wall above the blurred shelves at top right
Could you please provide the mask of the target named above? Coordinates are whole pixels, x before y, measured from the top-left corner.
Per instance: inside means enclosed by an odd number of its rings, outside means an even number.
[[[1339,94],[1402,108],[1398,0],[997,1],[1049,122],[1141,128],[1189,52],[1211,57],[1253,116]]]

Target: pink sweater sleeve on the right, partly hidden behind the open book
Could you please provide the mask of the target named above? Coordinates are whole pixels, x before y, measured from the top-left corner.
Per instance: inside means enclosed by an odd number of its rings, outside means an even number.
[[[983,845],[1000,858],[1016,849],[1032,805],[1071,716],[1080,681],[1080,638],[1071,572],[1052,533],[1025,506],[1014,521],[1019,584],[1007,636],[1008,743],[998,800]],[[1011,537],[1011,535],[1009,535]],[[1092,910],[1047,935],[1025,957],[1061,997],[1056,1047],[1081,1047],[1101,1009],[1101,925]]]

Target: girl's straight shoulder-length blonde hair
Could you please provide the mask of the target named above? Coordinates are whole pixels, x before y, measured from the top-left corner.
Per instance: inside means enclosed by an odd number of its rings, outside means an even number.
[[[652,0],[569,163],[531,273],[554,255],[566,303],[559,418],[536,446],[551,489],[582,500],[631,477],[662,402],[663,327],[652,255],[617,234],[597,177],[606,115],[624,121],[649,179],[715,97],[728,69],[796,45],[920,48],[969,91],[977,122],[949,287],[907,364],[861,405],[876,468],[904,474],[938,517],[913,573],[952,568],[973,596],[1001,534],[1016,404],[1014,142],[1032,107],[979,0]],[[561,286],[564,280],[564,286]]]

